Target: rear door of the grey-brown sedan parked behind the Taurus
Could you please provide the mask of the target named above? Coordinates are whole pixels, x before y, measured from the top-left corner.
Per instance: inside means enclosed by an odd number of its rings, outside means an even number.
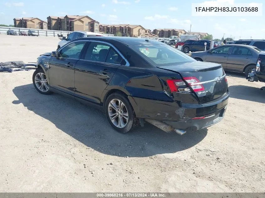
[[[248,48],[235,46],[228,57],[227,69],[243,72],[252,56],[252,52]]]

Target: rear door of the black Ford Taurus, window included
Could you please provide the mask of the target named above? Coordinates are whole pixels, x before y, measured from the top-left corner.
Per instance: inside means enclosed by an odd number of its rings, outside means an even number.
[[[123,63],[120,53],[111,44],[90,41],[75,67],[75,97],[95,104],[116,70]]]

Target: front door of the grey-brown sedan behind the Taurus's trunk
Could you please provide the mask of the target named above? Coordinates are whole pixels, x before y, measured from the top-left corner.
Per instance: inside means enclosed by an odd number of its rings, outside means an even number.
[[[212,50],[212,53],[207,53],[206,62],[219,63],[224,69],[227,69],[227,59],[232,46],[222,46]]]

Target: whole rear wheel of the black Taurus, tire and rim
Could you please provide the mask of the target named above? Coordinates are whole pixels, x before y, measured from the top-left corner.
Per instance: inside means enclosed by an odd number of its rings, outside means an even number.
[[[137,118],[129,100],[122,94],[110,94],[105,102],[109,124],[120,133],[127,133],[137,125]]]

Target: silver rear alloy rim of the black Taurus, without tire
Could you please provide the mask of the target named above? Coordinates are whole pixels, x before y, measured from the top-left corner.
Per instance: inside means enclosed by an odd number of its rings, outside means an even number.
[[[129,119],[128,110],[125,104],[119,99],[113,99],[109,102],[109,118],[118,128],[124,128]]]

